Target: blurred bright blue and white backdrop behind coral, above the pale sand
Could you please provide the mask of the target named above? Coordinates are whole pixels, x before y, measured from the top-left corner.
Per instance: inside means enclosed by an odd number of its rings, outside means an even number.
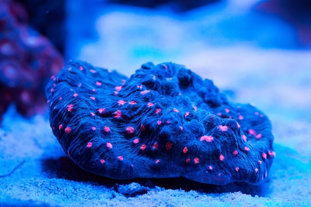
[[[311,48],[311,6],[306,0],[219,0],[188,10],[180,8],[185,0],[155,8],[76,2],[66,3],[65,57],[127,74],[147,61],[195,68],[191,57],[220,48]]]

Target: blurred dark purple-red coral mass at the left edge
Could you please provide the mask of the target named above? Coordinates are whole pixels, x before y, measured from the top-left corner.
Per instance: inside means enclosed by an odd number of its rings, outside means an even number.
[[[27,20],[20,4],[0,1],[0,122],[12,102],[23,115],[46,111],[44,87],[64,65],[61,54]]]

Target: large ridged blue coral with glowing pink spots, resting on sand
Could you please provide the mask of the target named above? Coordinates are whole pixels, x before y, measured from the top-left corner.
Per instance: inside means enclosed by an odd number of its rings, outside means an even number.
[[[275,156],[261,111],[229,103],[211,80],[173,63],[147,63],[127,78],[71,61],[46,95],[65,152],[102,176],[257,185]]]

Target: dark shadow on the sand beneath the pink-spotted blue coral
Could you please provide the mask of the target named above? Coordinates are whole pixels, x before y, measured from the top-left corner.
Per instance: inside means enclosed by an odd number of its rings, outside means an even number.
[[[78,182],[92,182],[95,185],[104,185],[108,188],[113,188],[116,192],[123,194],[126,197],[135,197],[147,193],[150,189],[156,186],[164,189],[196,190],[201,193],[228,193],[238,192],[249,194],[251,196],[266,197],[270,192],[267,191],[269,180],[260,185],[251,185],[245,182],[233,182],[226,185],[211,185],[188,180],[186,178],[134,178],[126,180],[117,180],[108,177],[96,175],[81,169],[69,157],[60,157],[58,159],[43,159],[42,170],[48,178],[60,178]],[[140,190],[133,193],[119,191],[120,185],[130,185],[131,183],[138,183],[143,186]]]

